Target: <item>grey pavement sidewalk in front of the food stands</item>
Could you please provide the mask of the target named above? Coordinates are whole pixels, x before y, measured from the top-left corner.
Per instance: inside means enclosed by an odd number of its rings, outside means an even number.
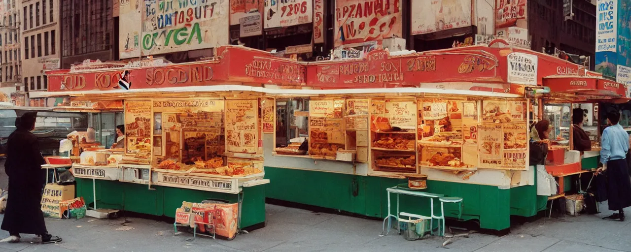
[[[601,205],[606,209],[606,205]],[[628,211],[631,212],[631,209]],[[512,228],[497,237],[471,234],[441,248],[442,238],[406,241],[390,232],[379,236],[380,221],[324,214],[277,205],[267,206],[267,226],[232,241],[198,237],[182,232],[174,236],[172,224],[129,218],[133,229],[121,229],[124,218],[97,220],[46,219],[49,231],[61,236],[60,244],[31,244],[25,236],[18,244],[0,243],[8,251],[631,251],[631,221],[603,221],[610,214],[541,219]],[[0,215],[1,217],[2,215]],[[0,238],[8,236],[1,231]],[[444,250],[445,249],[445,250]]]

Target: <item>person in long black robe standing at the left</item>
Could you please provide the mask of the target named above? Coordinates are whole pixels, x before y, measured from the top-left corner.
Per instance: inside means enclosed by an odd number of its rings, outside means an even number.
[[[45,185],[44,157],[37,144],[37,136],[30,131],[35,129],[37,112],[27,112],[17,118],[15,132],[9,135],[8,152],[4,169],[9,176],[9,195],[2,229],[9,231],[9,237],[2,242],[18,243],[20,234],[36,234],[42,243],[61,241],[46,231],[44,214],[40,201]]]

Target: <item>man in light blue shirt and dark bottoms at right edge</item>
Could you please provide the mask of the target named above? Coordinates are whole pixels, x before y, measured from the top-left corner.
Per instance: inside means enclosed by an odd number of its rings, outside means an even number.
[[[618,111],[609,112],[607,121],[611,126],[604,129],[601,137],[600,162],[603,167],[598,168],[596,173],[606,174],[609,210],[617,210],[618,213],[603,219],[624,221],[623,209],[631,206],[631,180],[629,179],[626,159],[629,149],[629,135],[618,124],[620,121]]]

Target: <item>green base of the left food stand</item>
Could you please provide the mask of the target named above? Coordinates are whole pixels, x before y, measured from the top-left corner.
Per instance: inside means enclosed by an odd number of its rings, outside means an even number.
[[[175,217],[175,209],[182,202],[202,202],[202,200],[227,200],[239,202],[238,194],[206,192],[185,188],[123,183],[120,181],[95,180],[97,207],[116,209],[139,214]],[[93,180],[76,178],[76,195],[83,197],[87,205],[93,205]],[[240,229],[252,230],[265,226],[265,187],[256,185],[244,187],[241,205]]]

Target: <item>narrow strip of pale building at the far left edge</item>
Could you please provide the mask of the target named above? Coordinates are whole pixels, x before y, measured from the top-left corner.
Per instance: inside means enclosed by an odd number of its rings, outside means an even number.
[[[0,86],[8,93],[9,90],[18,105],[23,105],[23,85],[21,83],[22,64],[20,57],[20,0],[0,1]]]

